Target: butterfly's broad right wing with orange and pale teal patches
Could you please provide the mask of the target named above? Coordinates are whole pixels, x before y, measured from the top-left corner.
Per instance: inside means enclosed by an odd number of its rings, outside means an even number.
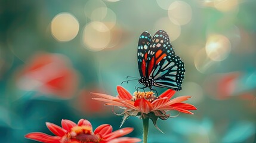
[[[147,73],[154,80],[154,86],[181,90],[184,79],[184,63],[175,55],[169,36],[159,30],[153,36],[147,57]]]

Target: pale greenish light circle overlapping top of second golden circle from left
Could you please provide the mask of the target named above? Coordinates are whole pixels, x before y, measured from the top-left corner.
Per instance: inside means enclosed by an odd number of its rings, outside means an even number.
[[[116,14],[110,8],[96,8],[91,13],[91,21],[109,23],[107,27],[112,29],[116,24]]]

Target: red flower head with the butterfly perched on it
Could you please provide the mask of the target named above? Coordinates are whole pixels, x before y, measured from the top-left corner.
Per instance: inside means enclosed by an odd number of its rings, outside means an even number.
[[[151,119],[156,126],[156,120],[158,118],[166,120],[170,117],[166,114],[166,111],[177,110],[182,113],[193,114],[189,110],[196,110],[196,107],[191,104],[183,103],[190,98],[190,96],[177,97],[172,100],[172,96],[175,91],[168,89],[159,97],[156,97],[152,91],[150,92],[134,92],[134,96],[129,94],[129,92],[122,88],[122,86],[117,87],[118,96],[112,97],[106,94],[96,94],[100,98],[92,98],[94,100],[106,102],[105,105],[118,106],[124,109],[124,112],[118,115],[124,115],[124,120],[129,116],[140,116],[143,119]],[[121,126],[122,126],[121,124]],[[156,126],[157,129],[159,129]]]

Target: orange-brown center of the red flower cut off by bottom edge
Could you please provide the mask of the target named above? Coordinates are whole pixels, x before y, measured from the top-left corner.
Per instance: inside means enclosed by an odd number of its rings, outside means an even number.
[[[74,126],[71,132],[63,136],[62,142],[70,142],[70,139],[76,139],[79,142],[100,142],[100,136],[92,133],[91,126]]]

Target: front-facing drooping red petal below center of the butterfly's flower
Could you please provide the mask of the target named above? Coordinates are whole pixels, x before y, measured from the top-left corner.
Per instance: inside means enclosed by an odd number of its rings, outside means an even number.
[[[138,107],[138,110],[146,114],[153,110],[153,105],[144,98],[136,100],[134,106]]]

